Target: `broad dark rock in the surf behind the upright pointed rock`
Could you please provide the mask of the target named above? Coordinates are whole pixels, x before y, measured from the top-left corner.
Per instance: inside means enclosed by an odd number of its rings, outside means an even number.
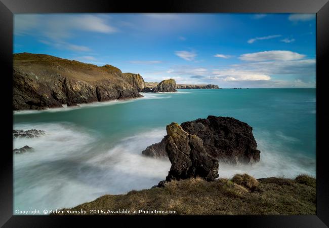
[[[260,160],[253,128],[244,122],[230,117],[209,116],[207,119],[184,122],[181,127],[188,134],[198,136],[207,153],[220,162],[237,164]],[[163,151],[157,148],[153,147],[152,157],[158,157],[157,153],[163,156]]]

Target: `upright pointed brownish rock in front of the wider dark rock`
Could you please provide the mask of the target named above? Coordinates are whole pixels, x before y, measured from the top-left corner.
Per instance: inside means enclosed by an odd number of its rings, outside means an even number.
[[[172,163],[166,181],[201,177],[212,181],[218,177],[218,160],[210,156],[202,140],[177,124],[167,126],[166,151]]]

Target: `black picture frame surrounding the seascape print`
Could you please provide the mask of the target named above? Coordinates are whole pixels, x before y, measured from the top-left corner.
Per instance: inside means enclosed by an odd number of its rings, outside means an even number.
[[[13,14],[14,13],[316,13],[316,215],[295,216],[17,216],[13,215],[13,157],[12,150],[12,58],[13,58]],[[153,2],[127,2],[105,0],[0,0],[0,58],[1,68],[1,97],[3,136],[5,142],[1,160],[1,198],[0,198],[0,224],[4,227],[53,227],[65,226],[67,219],[74,222],[93,220],[93,226],[98,222],[114,225],[116,220],[125,226],[127,221],[135,225],[161,226],[170,220],[186,220],[189,223],[211,224],[219,222],[243,227],[327,227],[329,225],[329,173],[325,155],[325,129],[324,102],[325,77],[328,77],[327,66],[329,51],[329,3],[328,0],[171,0]],[[297,117],[298,118],[298,117]],[[11,121],[10,121],[11,120]],[[323,148],[323,150],[322,150]],[[106,219],[106,220],[105,220]],[[160,219],[160,221],[154,220]],[[207,223],[204,223],[207,220]],[[108,223],[111,222],[111,223]],[[147,223],[146,223],[147,222]],[[185,221],[184,221],[185,222]],[[224,222],[224,223],[223,223]],[[78,224],[75,223],[77,226]],[[127,227],[127,226],[126,226]],[[225,225],[224,225],[225,227]]]

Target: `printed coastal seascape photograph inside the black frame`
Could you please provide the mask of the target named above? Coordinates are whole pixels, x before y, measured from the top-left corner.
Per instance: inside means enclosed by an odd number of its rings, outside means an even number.
[[[315,215],[316,14],[14,14],[14,215]]]

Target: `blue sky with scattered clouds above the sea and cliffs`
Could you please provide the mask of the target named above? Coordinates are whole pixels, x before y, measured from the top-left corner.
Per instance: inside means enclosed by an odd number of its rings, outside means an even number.
[[[15,14],[30,52],[222,88],[315,88],[315,14]]]

